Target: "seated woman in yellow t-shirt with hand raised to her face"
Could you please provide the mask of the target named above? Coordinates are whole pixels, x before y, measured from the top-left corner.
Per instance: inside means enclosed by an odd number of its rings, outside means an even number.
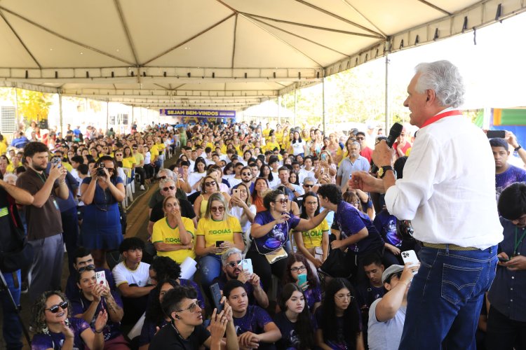
[[[163,200],[164,218],[154,224],[151,235],[157,255],[168,256],[181,264],[188,256],[196,258],[194,251],[194,222],[181,216],[179,200],[175,196]]]

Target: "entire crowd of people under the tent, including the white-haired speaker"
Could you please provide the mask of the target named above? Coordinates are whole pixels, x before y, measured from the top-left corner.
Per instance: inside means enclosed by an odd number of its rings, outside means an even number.
[[[0,239],[22,237],[0,267],[15,304],[28,290],[32,349],[526,349],[526,171],[508,150],[526,151],[459,116],[444,66],[417,67],[405,106],[421,129],[392,148],[374,124],[0,136]],[[154,188],[147,239],[126,235],[133,181]]]

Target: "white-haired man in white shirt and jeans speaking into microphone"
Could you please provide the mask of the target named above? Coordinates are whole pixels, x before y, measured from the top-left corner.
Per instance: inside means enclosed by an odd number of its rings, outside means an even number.
[[[457,109],[464,83],[451,62],[417,65],[407,94],[410,123],[420,130],[403,179],[393,171],[394,150],[381,141],[372,154],[379,179],[358,172],[349,185],[385,193],[389,213],[411,220],[422,241],[399,349],[476,349],[478,316],[503,239],[492,150]]]

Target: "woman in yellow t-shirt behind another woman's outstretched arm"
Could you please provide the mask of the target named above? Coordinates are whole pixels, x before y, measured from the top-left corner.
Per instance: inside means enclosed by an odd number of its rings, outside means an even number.
[[[320,214],[320,202],[316,193],[308,192],[303,196],[302,214],[300,218],[309,220]],[[321,267],[329,253],[329,225],[327,219],[323,219],[320,225],[308,231],[294,231],[294,242],[298,253],[312,262],[318,269]]]

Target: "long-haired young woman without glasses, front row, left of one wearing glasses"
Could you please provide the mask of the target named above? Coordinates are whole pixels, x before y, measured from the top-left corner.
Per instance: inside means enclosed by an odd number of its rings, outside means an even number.
[[[306,305],[302,288],[287,283],[281,290],[278,305],[282,310],[274,317],[274,323],[281,330],[281,339],[276,342],[278,349],[313,349],[314,335],[311,313]]]

